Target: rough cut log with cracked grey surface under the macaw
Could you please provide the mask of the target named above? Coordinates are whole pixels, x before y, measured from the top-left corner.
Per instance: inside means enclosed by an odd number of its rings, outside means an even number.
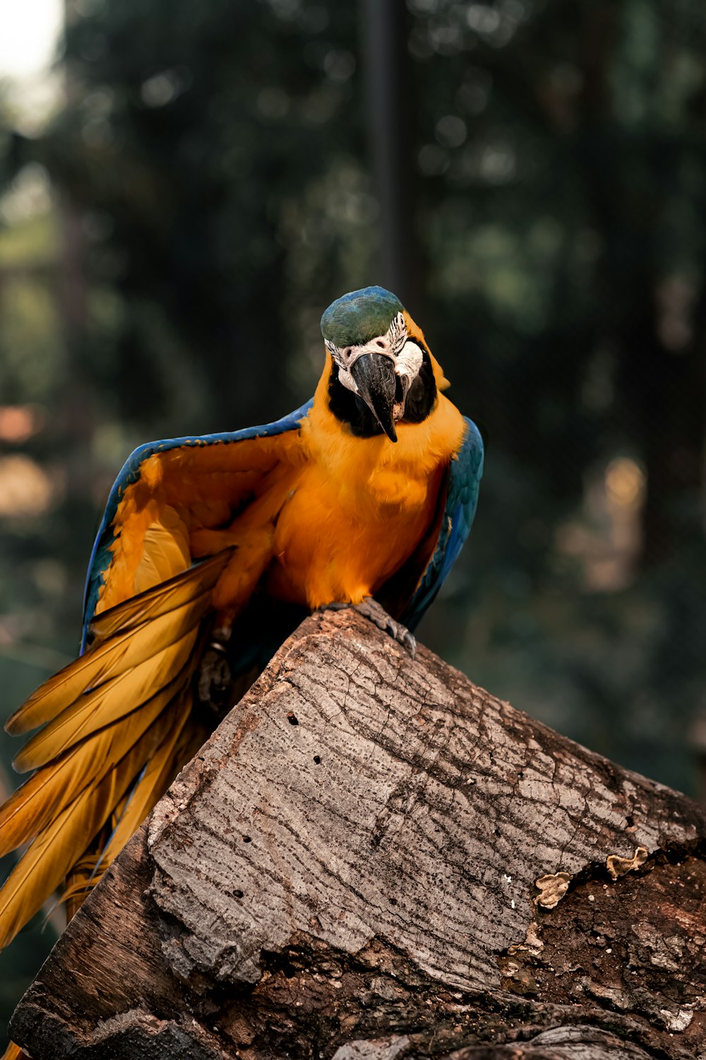
[[[12,1023],[35,1060],[706,1058],[706,815],[307,619]]]

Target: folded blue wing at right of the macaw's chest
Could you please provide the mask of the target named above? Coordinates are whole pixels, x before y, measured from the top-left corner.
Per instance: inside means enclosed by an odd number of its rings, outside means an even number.
[[[473,421],[464,419],[466,434],[449,467],[447,499],[436,547],[402,615],[402,621],[411,630],[421,620],[447,580],[473,524],[483,476],[483,440]]]

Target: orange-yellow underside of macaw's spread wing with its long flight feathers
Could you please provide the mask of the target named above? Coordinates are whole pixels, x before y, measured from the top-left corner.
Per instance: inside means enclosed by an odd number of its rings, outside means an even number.
[[[5,726],[43,727],[14,762],[36,772],[0,808],[0,853],[31,844],[0,890],[0,948],[64,880],[75,911],[205,739],[194,674],[215,608],[235,614],[271,560],[290,435],[152,454],[120,494],[89,647]]]

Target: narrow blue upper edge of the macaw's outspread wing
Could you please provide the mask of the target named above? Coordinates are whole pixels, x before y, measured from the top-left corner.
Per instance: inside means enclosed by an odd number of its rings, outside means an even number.
[[[288,430],[297,429],[300,420],[307,414],[312,403],[312,400],[308,401],[305,405],[302,405],[301,408],[297,408],[295,411],[283,417],[282,420],[276,420],[274,423],[267,423],[259,427],[246,427],[242,430],[224,431],[219,435],[198,435],[191,438],[170,438],[161,442],[148,442],[145,445],[141,445],[128,457],[123,470],[115,479],[110,494],[108,495],[106,510],[103,515],[103,519],[101,520],[101,526],[98,527],[98,532],[91,552],[91,559],[89,561],[88,572],[86,576],[86,588],[84,590],[82,652],[86,648],[88,625],[95,612],[98,593],[104,582],[104,576],[112,560],[110,546],[115,540],[115,535],[113,533],[113,520],[115,518],[117,506],[120,505],[123,494],[128,485],[137,482],[140,478],[140,469],[147,457],[151,456],[153,453],[166,453],[168,449],[176,449],[181,446],[213,445],[217,442],[242,442],[253,438],[284,435]]]

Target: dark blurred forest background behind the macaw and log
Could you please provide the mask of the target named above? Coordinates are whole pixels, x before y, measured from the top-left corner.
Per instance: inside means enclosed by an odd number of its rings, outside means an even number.
[[[420,638],[699,795],[705,56],[690,0],[0,0],[2,716],[128,453],[296,407],[381,283],[487,443]]]

